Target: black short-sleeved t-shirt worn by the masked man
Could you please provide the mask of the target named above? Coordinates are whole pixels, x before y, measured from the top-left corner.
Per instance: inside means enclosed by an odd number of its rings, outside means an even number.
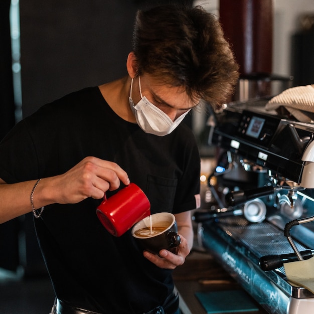
[[[19,122],[0,144],[7,183],[65,173],[86,156],[116,162],[147,195],[151,213],[196,208],[200,158],[181,123],[160,137],[117,116],[98,87],[69,94]],[[107,192],[106,196],[114,192]],[[101,200],[45,207],[35,227],[58,298],[102,313],[142,313],[172,292],[172,271],[142,256],[130,231],[110,235],[96,216]]]

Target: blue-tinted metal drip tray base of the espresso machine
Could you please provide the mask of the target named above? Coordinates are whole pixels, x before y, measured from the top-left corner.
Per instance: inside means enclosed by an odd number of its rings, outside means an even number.
[[[314,294],[290,284],[284,268],[263,271],[260,257],[293,253],[283,231],[268,221],[249,223],[243,217],[226,217],[202,224],[203,245],[223,268],[268,312],[301,313],[292,309],[294,303],[305,303],[314,312]],[[298,250],[307,249],[295,241]],[[304,310],[304,306],[296,306]]]

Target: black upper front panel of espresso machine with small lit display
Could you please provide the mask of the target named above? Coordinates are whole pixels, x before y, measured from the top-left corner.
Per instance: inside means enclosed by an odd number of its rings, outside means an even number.
[[[313,140],[314,125],[256,110],[254,106],[233,106],[217,116],[210,134],[210,144],[300,183],[302,153]]]

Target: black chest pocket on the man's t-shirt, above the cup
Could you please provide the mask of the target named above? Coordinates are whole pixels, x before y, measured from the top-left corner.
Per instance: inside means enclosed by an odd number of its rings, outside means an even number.
[[[177,183],[178,179],[148,175],[146,196],[151,214],[173,211]]]

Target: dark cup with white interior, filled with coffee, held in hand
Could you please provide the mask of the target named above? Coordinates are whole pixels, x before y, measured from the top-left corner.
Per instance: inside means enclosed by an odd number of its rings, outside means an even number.
[[[176,217],[172,213],[145,217],[133,226],[132,236],[143,250],[153,254],[159,254],[162,249],[176,254],[181,243]]]

